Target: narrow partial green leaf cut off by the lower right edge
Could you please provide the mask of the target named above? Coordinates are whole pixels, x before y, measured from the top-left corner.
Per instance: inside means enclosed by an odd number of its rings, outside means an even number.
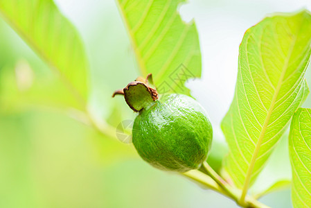
[[[311,205],[311,109],[299,108],[290,125],[292,202],[294,207]]]

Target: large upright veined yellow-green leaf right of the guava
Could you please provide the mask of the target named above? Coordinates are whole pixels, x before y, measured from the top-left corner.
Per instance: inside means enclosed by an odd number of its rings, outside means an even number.
[[[243,37],[236,92],[222,130],[229,144],[224,168],[244,194],[308,96],[310,43],[306,10],[267,17]]]

